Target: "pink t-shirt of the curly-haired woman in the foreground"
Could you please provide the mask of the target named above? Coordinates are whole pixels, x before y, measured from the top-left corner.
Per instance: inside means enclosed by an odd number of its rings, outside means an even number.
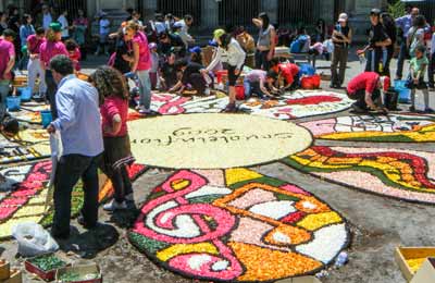
[[[117,96],[110,96],[104,99],[104,103],[100,107],[102,118],[102,128],[112,126],[113,116],[121,115],[121,130],[116,135],[104,134],[105,137],[120,137],[127,134],[127,118],[128,118],[128,100]]]

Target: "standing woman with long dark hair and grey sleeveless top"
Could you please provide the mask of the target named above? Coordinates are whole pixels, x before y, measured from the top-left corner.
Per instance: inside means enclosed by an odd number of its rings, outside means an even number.
[[[258,17],[252,19],[252,23],[260,28],[257,41],[256,69],[269,71],[276,46],[275,27],[271,25],[269,15],[264,12],[260,13]]]

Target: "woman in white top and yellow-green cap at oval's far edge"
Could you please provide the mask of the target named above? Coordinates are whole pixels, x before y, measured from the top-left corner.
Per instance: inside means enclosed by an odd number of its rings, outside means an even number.
[[[228,71],[229,103],[226,106],[224,111],[234,112],[236,111],[236,83],[241,70],[244,69],[246,53],[238,41],[223,29],[214,30],[214,40],[219,45],[216,54],[209,66],[202,70],[202,73],[203,75],[207,75],[219,63],[227,63],[226,70]]]

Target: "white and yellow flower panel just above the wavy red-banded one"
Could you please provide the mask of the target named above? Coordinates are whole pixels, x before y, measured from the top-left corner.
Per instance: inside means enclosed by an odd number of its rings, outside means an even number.
[[[421,114],[338,116],[300,123],[320,139],[433,143],[435,116]]]

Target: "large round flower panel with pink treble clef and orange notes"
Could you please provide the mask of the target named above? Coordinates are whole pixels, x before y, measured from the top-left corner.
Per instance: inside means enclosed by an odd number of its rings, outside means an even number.
[[[128,237],[174,272],[228,282],[316,272],[349,239],[322,200],[247,169],[176,171],[151,192]]]

